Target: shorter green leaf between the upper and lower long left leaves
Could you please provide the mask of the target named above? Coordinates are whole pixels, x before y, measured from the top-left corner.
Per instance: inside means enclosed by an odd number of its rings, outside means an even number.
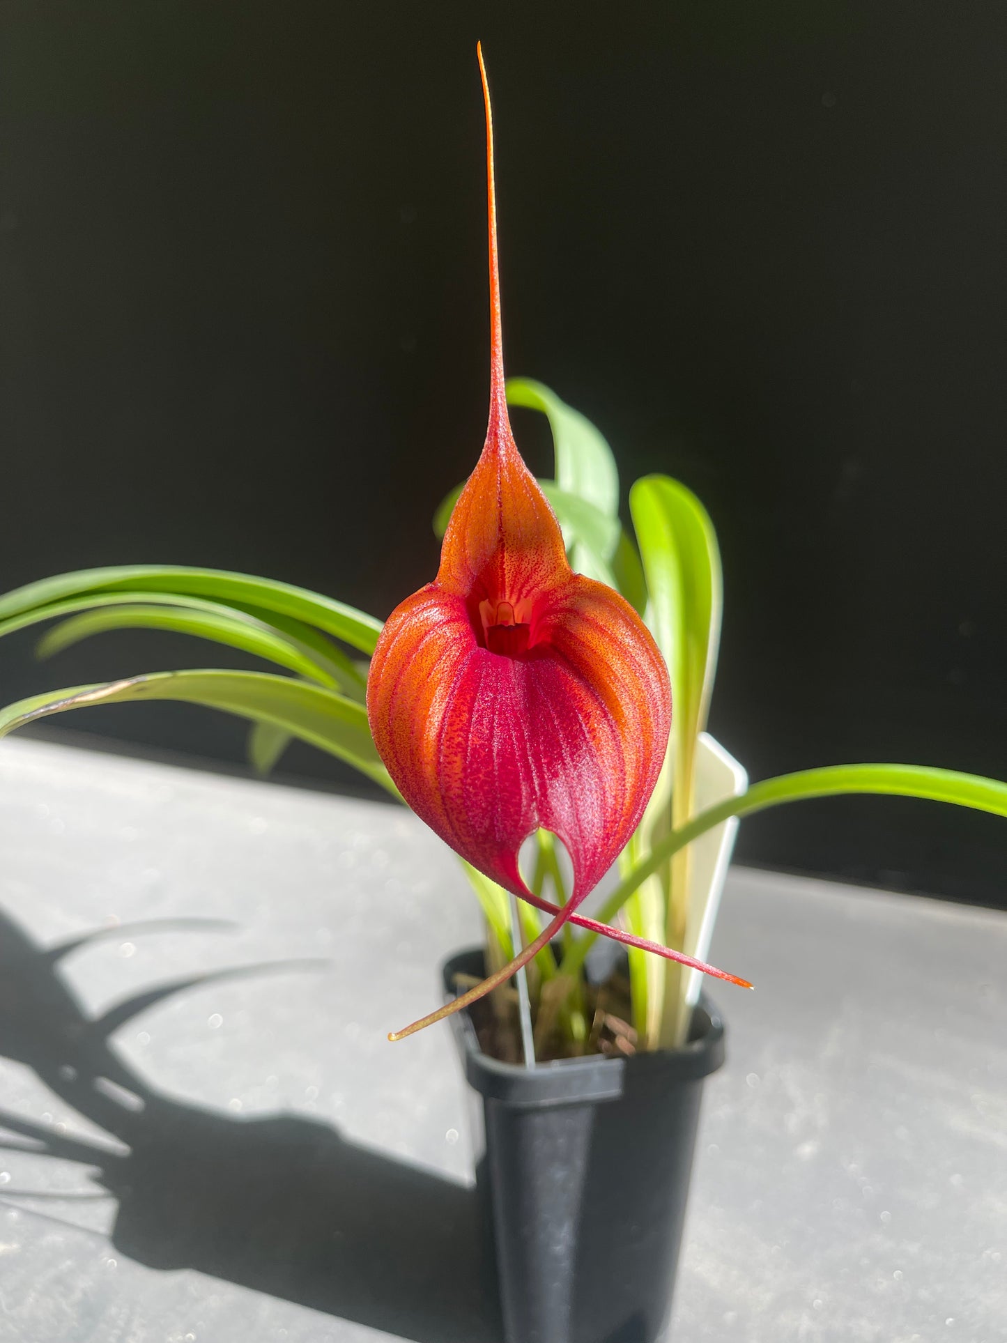
[[[162,600],[162,599],[161,599]],[[154,598],[157,602],[157,598]],[[59,604],[59,603],[56,603]],[[70,603],[62,603],[67,606]],[[52,607],[43,607],[43,615],[56,614]],[[226,614],[222,614],[226,612]],[[310,681],[320,681],[322,685],[337,686],[338,678],[332,670],[320,665],[311,655],[311,650],[294,639],[279,634],[260,620],[244,612],[231,611],[219,607],[216,611],[205,608],[183,607],[175,604],[134,604],[122,603],[115,599],[114,604],[99,604],[81,615],[71,615],[60,620],[59,624],[48,630],[38,645],[38,654],[42,658],[52,657],[64,649],[73,647],[81,639],[87,639],[94,634],[105,634],[109,630],[171,630],[176,634],[192,634],[197,638],[212,639],[227,647],[240,649],[255,657],[266,658],[278,666],[287,667],[298,676]]]

